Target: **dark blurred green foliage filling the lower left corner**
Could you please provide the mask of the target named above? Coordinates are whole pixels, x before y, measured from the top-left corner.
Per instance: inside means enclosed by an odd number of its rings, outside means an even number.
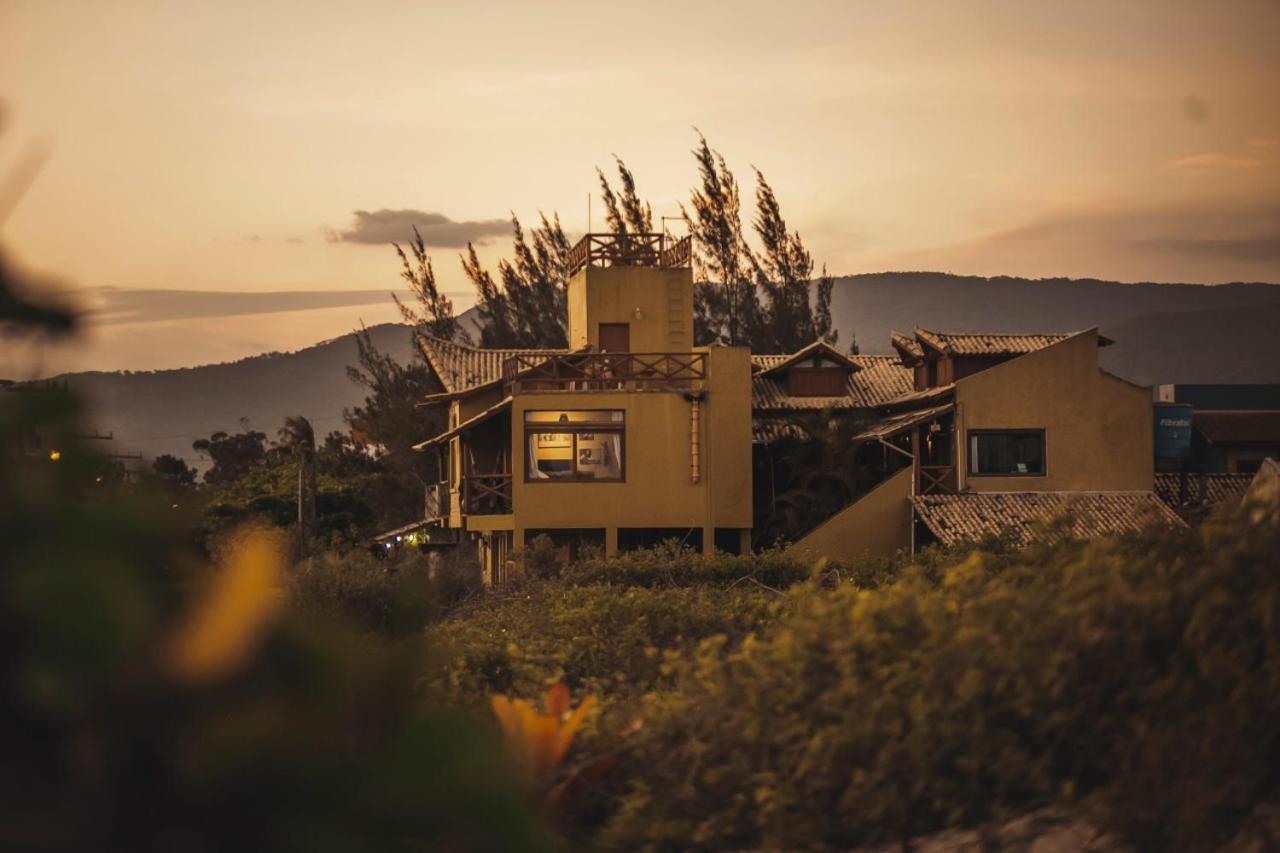
[[[292,607],[234,671],[175,681],[195,519],[99,482],[77,415],[0,392],[0,848],[549,847],[492,726],[421,710],[417,642]]]

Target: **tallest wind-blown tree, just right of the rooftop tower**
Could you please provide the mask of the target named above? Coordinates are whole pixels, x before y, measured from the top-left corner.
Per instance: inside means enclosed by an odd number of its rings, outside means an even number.
[[[704,345],[749,346],[758,325],[759,296],[750,278],[750,248],[742,238],[737,181],[701,133],[694,159],[700,186],[689,207],[680,206],[698,255],[694,337]]]

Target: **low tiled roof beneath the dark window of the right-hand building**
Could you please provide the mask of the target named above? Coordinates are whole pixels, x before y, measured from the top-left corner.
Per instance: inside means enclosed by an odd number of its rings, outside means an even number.
[[[1011,535],[1019,544],[1043,538],[1047,521],[1066,514],[1070,535],[1091,539],[1149,524],[1184,526],[1155,492],[979,492],[916,494],[916,516],[943,544]]]

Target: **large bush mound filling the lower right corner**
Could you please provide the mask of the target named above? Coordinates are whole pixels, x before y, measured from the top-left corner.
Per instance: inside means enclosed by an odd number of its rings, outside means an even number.
[[[1061,800],[1203,849],[1277,793],[1280,533],[1236,515],[815,590],[659,686],[598,844],[838,849]]]

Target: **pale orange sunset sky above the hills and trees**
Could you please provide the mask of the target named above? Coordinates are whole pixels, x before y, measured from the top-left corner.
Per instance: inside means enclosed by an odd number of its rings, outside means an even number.
[[[613,152],[676,214],[696,126],[833,273],[1280,280],[1277,40],[1267,0],[0,0],[0,174],[47,147],[0,234],[81,289],[360,291],[412,219],[465,306],[465,240],[585,231]],[[280,316],[152,362],[390,313]]]

